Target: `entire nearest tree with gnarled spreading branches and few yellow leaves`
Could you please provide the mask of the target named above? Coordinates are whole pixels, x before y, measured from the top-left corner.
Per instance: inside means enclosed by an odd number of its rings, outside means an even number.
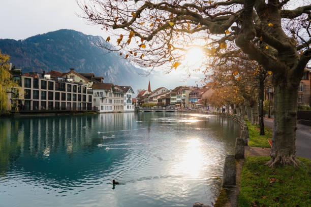
[[[311,58],[311,5],[300,1],[304,6],[286,9],[290,3],[89,0],[79,5],[84,18],[114,34],[112,39],[117,40],[111,50],[147,67],[176,68],[184,51],[195,46],[202,47],[206,56],[236,56],[239,49],[231,50],[236,45],[272,71],[274,131],[268,164],[274,166],[297,165],[297,89]]]

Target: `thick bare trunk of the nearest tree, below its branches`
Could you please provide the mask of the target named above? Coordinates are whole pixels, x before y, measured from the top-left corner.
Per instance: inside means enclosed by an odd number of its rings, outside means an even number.
[[[274,86],[274,123],[270,167],[275,164],[297,165],[296,160],[296,120],[298,85],[291,80],[273,83]]]

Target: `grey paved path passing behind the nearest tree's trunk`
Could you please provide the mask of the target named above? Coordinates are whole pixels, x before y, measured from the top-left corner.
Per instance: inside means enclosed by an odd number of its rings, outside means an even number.
[[[264,124],[273,129],[273,119],[264,118]],[[296,155],[311,159],[311,126],[297,124]]]

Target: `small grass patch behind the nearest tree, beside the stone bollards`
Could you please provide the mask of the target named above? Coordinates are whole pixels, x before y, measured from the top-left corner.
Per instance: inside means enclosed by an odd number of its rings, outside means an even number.
[[[251,125],[251,121],[247,120],[246,124],[248,126],[248,133],[250,134],[248,146],[271,148],[268,140],[272,140],[272,129],[265,126],[265,135],[259,135],[259,125]]]

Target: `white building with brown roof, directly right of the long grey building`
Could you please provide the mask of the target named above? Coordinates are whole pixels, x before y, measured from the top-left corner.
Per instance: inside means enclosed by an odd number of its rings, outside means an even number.
[[[112,83],[94,83],[94,106],[97,107],[100,113],[112,112],[114,100],[113,84]]]

